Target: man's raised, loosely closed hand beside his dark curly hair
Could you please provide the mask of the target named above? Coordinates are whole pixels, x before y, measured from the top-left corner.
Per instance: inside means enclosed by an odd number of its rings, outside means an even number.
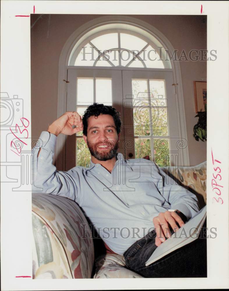
[[[72,128],[72,125],[76,125],[76,127]],[[60,133],[72,135],[81,130],[83,130],[83,122],[79,113],[67,111],[55,120],[47,131],[58,136]]]

